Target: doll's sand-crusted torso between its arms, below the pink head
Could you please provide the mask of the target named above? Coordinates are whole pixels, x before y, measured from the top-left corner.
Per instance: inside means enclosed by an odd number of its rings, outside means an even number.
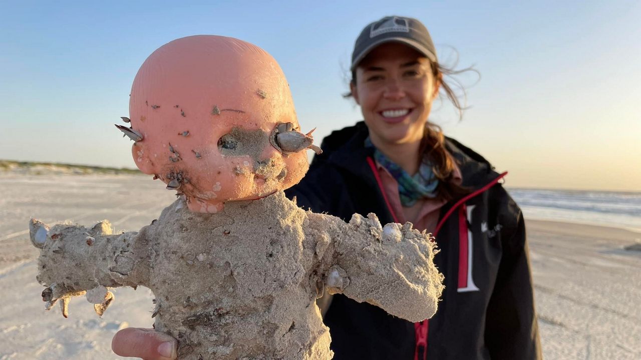
[[[219,214],[182,200],[163,211],[150,226],[149,288],[154,326],[178,338],[179,358],[329,359],[304,218],[282,192]]]

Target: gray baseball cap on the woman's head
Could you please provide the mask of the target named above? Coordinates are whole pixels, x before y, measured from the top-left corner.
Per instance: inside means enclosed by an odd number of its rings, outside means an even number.
[[[402,42],[421,54],[430,61],[437,62],[437,51],[434,48],[428,29],[417,19],[402,16],[386,16],[365,26],[361,31],[352,53],[352,66],[356,69],[370,51],[386,42]]]

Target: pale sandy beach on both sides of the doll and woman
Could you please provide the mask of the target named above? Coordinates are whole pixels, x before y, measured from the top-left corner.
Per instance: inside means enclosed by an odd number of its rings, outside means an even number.
[[[122,359],[111,352],[124,327],[151,327],[145,288],[115,290],[102,318],[71,300],[69,318],[44,309],[35,280],[37,249],[28,220],[118,231],[149,224],[174,199],[160,181],[132,175],[0,174],[0,360]],[[545,359],[641,359],[641,233],[614,227],[529,220],[529,247]]]

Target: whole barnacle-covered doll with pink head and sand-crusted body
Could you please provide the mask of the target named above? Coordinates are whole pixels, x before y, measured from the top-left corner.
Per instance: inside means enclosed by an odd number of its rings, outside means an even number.
[[[138,232],[31,220],[47,309],[86,295],[101,315],[108,288],[146,286],[154,328],[180,359],[330,359],[315,299],[324,289],[417,322],[437,309],[442,275],[412,224],[349,224],[304,211],[283,190],[308,169],[278,63],[235,38],[180,38],[133,82],[130,127],[140,170],[179,198]]]

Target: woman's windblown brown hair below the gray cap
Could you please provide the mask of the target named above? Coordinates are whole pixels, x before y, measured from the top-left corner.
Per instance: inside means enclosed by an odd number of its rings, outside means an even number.
[[[455,66],[456,64],[454,64]],[[478,74],[478,71],[472,67],[467,67],[461,70],[454,70],[453,67],[444,67],[436,62],[431,62],[431,70],[434,79],[440,83],[440,90],[445,93],[447,99],[452,102],[454,108],[458,110],[459,120],[463,119],[463,111],[467,109],[461,104],[458,95],[454,92],[452,86],[444,80],[447,76],[456,87],[462,91],[462,97],[465,99],[465,89],[463,85],[454,78],[455,75],[462,74],[463,72],[473,71]],[[350,83],[356,84],[356,70],[352,71],[352,78]],[[351,91],[344,94],[343,97],[352,97]],[[437,188],[437,199],[452,200],[460,195],[469,193],[469,190],[453,182],[454,178],[454,160],[453,156],[445,149],[445,135],[440,126],[431,122],[426,122],[425,133],[420,141],[419,153],[422,154],[421,161],[429,162],[432,164],[432,170],[435,176],[440,180]]]

